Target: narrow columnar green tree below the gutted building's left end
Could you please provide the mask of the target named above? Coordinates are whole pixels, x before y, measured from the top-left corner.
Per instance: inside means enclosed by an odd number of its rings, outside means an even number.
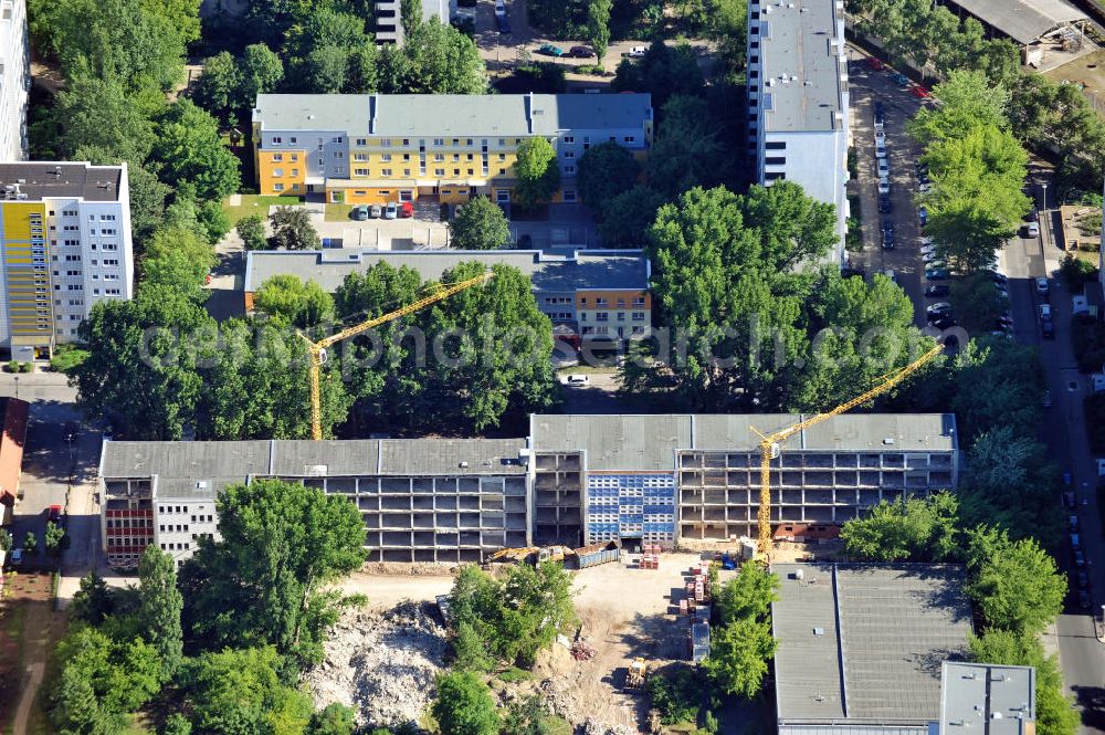
[[[177,568],[172,557],[155,546],[147,546],[138,561],[138,620],[144,638],[157,649],[166,679],[180,666],[183,633],[180,610],[183,601],[177,589]]]

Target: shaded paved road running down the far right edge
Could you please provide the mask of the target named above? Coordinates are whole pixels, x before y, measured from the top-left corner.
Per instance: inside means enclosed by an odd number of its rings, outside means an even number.
[[[1041,172],[1031,186],[1040,206],[1043,200],[1038,183],[1048,180],[1048,176]],[[1072,484],[1078,498],[1081,538],[1088,560],[1086,571],[1091,581],[1092,610],[1095,611],[1105,603],[1105,542],[1094,492],[1096,466],[1090,453],[1082,411],[1082,400],[1091,389],[1085,377],[1077,371],[1071,350],[1071,294],[1054,277],[1063,253],[1054,246],[1051,237],[1053,214],[1049,210],[1041,217],[1042,238],[1014,239],[1002,252],[1001,261],[1009,275],[1013,334],[1019,342],[1041,346],[1053,406],[1045,410],[1040,439],[1048,445],[1048,455],[1072,473]],[[1034,279],[1041,275],[1051,277],[1051,304],[1056,327],[1054,342],[1040,339],[1035,316],[1040,297],[1035,294]],[[1076,570],[1065,540],[1061,548],[1063,553],[1059,563],[1066,569],[1071,584],[1066,612],[1056,622],[1063,679],[1083,711],[1080,733],[1105,732],[1105,647],[1095,640],[1093,618],[1077,607]]]

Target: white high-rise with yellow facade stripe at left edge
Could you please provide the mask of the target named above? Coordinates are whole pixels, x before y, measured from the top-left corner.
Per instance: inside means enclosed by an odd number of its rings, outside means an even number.
[[[78,339],[97,302],[134,295],[127,167],[0,164],[0,347],[15,360]]]

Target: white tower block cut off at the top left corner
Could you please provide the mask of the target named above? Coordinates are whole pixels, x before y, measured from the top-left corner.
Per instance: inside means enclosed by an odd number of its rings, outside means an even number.
[[[27,102],[31,88],[27,0],[0,0],[0,161],[27,158]]]

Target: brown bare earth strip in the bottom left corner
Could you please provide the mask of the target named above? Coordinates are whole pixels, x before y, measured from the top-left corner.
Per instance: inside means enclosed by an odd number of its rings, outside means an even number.
[[[65,616],[53,610],[50,575],[19,574],[4,578],[0,602],[0,732],[24,735],[39,718],[35,697],[46,660],[65,628]]]

